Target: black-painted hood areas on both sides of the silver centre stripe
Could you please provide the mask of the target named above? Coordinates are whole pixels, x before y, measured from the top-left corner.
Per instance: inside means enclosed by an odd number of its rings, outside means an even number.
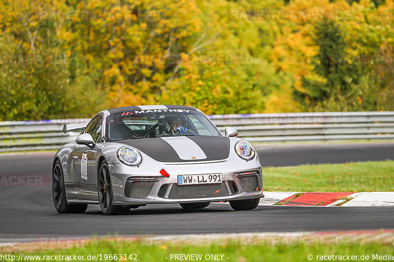
[[[144,139],[125,139],[119,141],[149,155],[156,161],[160,162],[200,162],[222,160],[229,157],[230,139],[228,137],[216,136],[196,136],[188,137],[194,141],[205,153],[205,159],[180,159],[174,148],[161,138],[144,138]],[[118,142],[118,141],[117,141]]]

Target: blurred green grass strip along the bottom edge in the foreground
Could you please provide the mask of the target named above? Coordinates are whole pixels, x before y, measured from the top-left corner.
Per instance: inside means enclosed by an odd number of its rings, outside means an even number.
[[[265,243],[263,241],[263,243]],[[2,253],[4,255],[5,253]],[[136,243],[125,243],[122,246],[94,246],[89,245],[86,247],[72,247],[69,249],[50,249],[50,250],[40,250],[35,252],[27,252],[23,253],[24,255],[38,255],[38,256],[85,256],[83,261],[90,262],[96,261],[94,259],[87,259],[88,255],[97,256],[101,254],[98,261],[135,261],[130,260],[130,258],[136,259],[136,261],[140,262],[168,262],[168,261],[180,261],[180,260],[170,260],[171,254],[201,254],[202,259],[200,261],[214,261],[214,260],[206,260],[205,256],[209,254],[218,254],[223,255],[223,261],[228,262],[249,262],[249,261],[264,261],[264,262],[295,262],[295,261],[322,261],[318,260],[317,256],[329,256],[329,255],[350,255],[350,256],[358,256],[360,258],[362,255],[369,256],[368,260],[365,261],[373,261],[372,256],[374,254],[378,254],[379,256],[384,256],[386,254],[394,255],[394,249],[391,245],[384,245],[379,243],[369,243],[369,244],[350,244],[350,245],[306,245],[306,244],[297,244],[297,245],[262,245],[258,246],[256,244],[252,245],[242,245],[239,246],[237,244],[231,245],[229,242],[224,242],[223,244],[216,243],[210,245],[202,245],[196,246],[191,244],[176,244],[171,245],[167,243],[162,243],[160,245],[154,246],[146,246],[143,244]],[[108,259],[108,255],[115,254],[123,254],[126,255],[128,259],[120,260],[119,257],[114,259]],[[19,252],[14,253],[18,257]],[[309,258],[312,259],[308,259]],[[99,255],[100,256],[100,255]],[[312,256],[312,257],[311,257]],[[106,259],[105,259],[106,258]],[[332,261],[333,259],[331,259]],[[334,259],[337,261],[338,259]],[[343,260],[343,259],[341,259]],[[10,261],[10,260],[5,260]],[[29,261],[34,262],[37,261],[33,258],[29,258],[29,260],[21,260],[21,261]],[[42,261],[42,260],[41,260]],[[46,260],[46,261],[56,261]],[[61,261],[61,260],[57,260]],[[62,260],[66,261],[66,260]],[[191,260],[181,260],[181,261],[191,261]],[[360,260],[356,260],[360,261]],[[386,260],[389,261],[389,260]]]

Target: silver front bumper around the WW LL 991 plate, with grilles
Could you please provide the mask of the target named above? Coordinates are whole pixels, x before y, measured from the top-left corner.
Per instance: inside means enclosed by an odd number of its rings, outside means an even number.
[[[201,164],[152,163],[149,169],[109,166],[113,204],[219,202],[263,197],[262,167],[256,162],[234,168],[229,161]],[[170,176],[164,177],[164,169]],[[120,172],[119,172],[120,171]],[[156,172],[155,172],[156,171]],[[222,174],[220,184],[177,185],[178,175]]]

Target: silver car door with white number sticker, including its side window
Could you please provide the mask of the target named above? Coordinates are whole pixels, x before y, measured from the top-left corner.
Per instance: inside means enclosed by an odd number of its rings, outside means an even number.
[[[98,144],[101,143],[101,130],[102,116],[96,116],[87,125],[84,133],[90,134],[93,141]],[[97,196],[97,149],[97,145],[93,148],[86,145],[77,145],[72,152],[72,158],[74,161],[73,178],[74,181],[77,181],[76,187],[82,191],[83,195],[86,196]],[[86,199],[86,197],[83,199]]]

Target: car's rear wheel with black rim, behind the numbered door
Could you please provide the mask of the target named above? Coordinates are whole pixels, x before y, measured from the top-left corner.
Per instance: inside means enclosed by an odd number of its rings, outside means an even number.
[[[84,213],[88,204],[67,204],[62,164],[56,160],[52,170],[52,198],[59,214]]]

